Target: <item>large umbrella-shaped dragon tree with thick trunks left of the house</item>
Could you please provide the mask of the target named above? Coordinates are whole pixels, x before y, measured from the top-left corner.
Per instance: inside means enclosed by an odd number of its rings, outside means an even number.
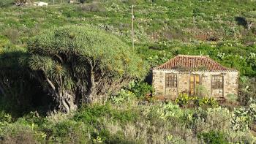
[[[132,48],[91,26],[44,31],[29,42],[29,53],[34,76],[66,113],[80,102],[104,101],[147,72],[147,64]]]

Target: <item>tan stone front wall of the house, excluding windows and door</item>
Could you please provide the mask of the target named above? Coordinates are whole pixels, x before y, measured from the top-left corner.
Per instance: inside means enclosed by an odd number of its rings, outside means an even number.
[[[172,73],[178,76],[177,88],[165,88],[165,74]],[[238,94],[238,72],[178,72],[175,70],[153,70],[152,85],[155,94],[165,95],[170,98],[178,96],[180,93],[189,93],[189,76],[200,75],[201,86],[206,88],[208,96],[226,97],[228,94]],[[212,75],[223,75],[223,89],[211,88]]]

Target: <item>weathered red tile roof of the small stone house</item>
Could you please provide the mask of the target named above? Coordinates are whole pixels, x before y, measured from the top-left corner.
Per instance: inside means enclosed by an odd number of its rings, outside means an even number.
[[[212,60],[208,56],[187,56],[178,55],[171,58],[165,64],[156,67],[155,69],[178,69],[178,70],[206,70],[206,71],[225,71],[235,70],[223,67],[221,64]]]

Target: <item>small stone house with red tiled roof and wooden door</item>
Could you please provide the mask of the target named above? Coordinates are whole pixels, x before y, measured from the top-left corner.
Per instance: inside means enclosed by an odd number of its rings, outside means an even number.
[[[153,69],[155,93],[173,99],[180,93],[202,93],[215,98],[238,94],[238,71],[208,56],[178,55]]]

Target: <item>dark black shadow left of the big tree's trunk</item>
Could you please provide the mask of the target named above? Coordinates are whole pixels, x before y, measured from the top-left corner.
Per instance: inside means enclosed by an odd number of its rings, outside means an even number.
[[[0,53],[0,112],[10,113],[12,118],[30,111],[45,115],[53,103],[53,98],[26,67],[27,56],[23,50]]]

